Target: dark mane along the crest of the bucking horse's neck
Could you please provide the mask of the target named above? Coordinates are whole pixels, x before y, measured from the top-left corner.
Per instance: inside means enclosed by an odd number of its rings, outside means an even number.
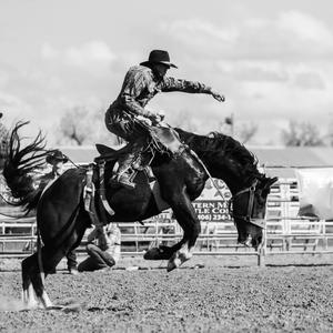
[[[259,174],[258,159],[242,143],[220,132],[210,132],[208,135],[199,135],[181,129],[174,129],[182,141],[203,157],[213,158],[223,153],[225,158],[235,160],[246,173]]]

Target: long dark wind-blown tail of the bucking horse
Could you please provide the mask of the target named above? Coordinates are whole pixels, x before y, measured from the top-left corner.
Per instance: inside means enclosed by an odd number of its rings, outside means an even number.
[[[13,200],[10,204],[22,206],[28,214],[37,208],[42,189],[36,189],[33,173],[46,167],[46,139],[39,131],[34,140],[22,147],[26,138],[20,138],[19,130],[29,122],[19,121],[9,135],[3,176]]]

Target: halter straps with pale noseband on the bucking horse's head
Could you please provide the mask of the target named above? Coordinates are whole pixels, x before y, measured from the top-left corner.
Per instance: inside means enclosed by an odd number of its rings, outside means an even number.
[[[240,219],[240,220],[243,220],[248,223],[252,223],[256,226],[260,226],[262,229],[265,228],[265,220],[264,219],[252,219],[252,211],[253,211],[253,204],[254,204],[254,194],[255,194],[255,188],[258,185],[258,179],[255,179],[253,181],[253,183],[251,184],[251,186],[244,189],[244,190],[241,190],[239,191],[238,193],[235,193],[230,200],[229,200],[229,212],[230,212],[230,215],[233,218],[233,219]],[[250,192],[250,195],[249,195],[249,202],[248,202],[248,213],[246,215],[235,215],[233,213],[233,209],[231,209],[231,204],[234,203],[235,199],[239,198],[240,195],[242,194],[245,194]]]

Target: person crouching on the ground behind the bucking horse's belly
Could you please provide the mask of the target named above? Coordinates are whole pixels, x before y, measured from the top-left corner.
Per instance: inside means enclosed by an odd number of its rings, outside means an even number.
[[[89,256],[79,264],[79,272],[112,268],[119,261],[121,234],[115,223],[95,226],[87,240]]]

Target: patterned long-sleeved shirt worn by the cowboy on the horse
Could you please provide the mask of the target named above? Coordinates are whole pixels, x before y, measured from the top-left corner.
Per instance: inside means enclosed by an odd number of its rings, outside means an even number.
[[[200,83],[181,79],[164,77],[159,80],[153,71],[144,65],[134,65],[125,74],[120,94],[110,107],[115,115],[123,111],[130,114],[148,117],[149,111],[144,110],[147,103],[159,92],[183,91],[189,93],[210,93],[211,88]]]

